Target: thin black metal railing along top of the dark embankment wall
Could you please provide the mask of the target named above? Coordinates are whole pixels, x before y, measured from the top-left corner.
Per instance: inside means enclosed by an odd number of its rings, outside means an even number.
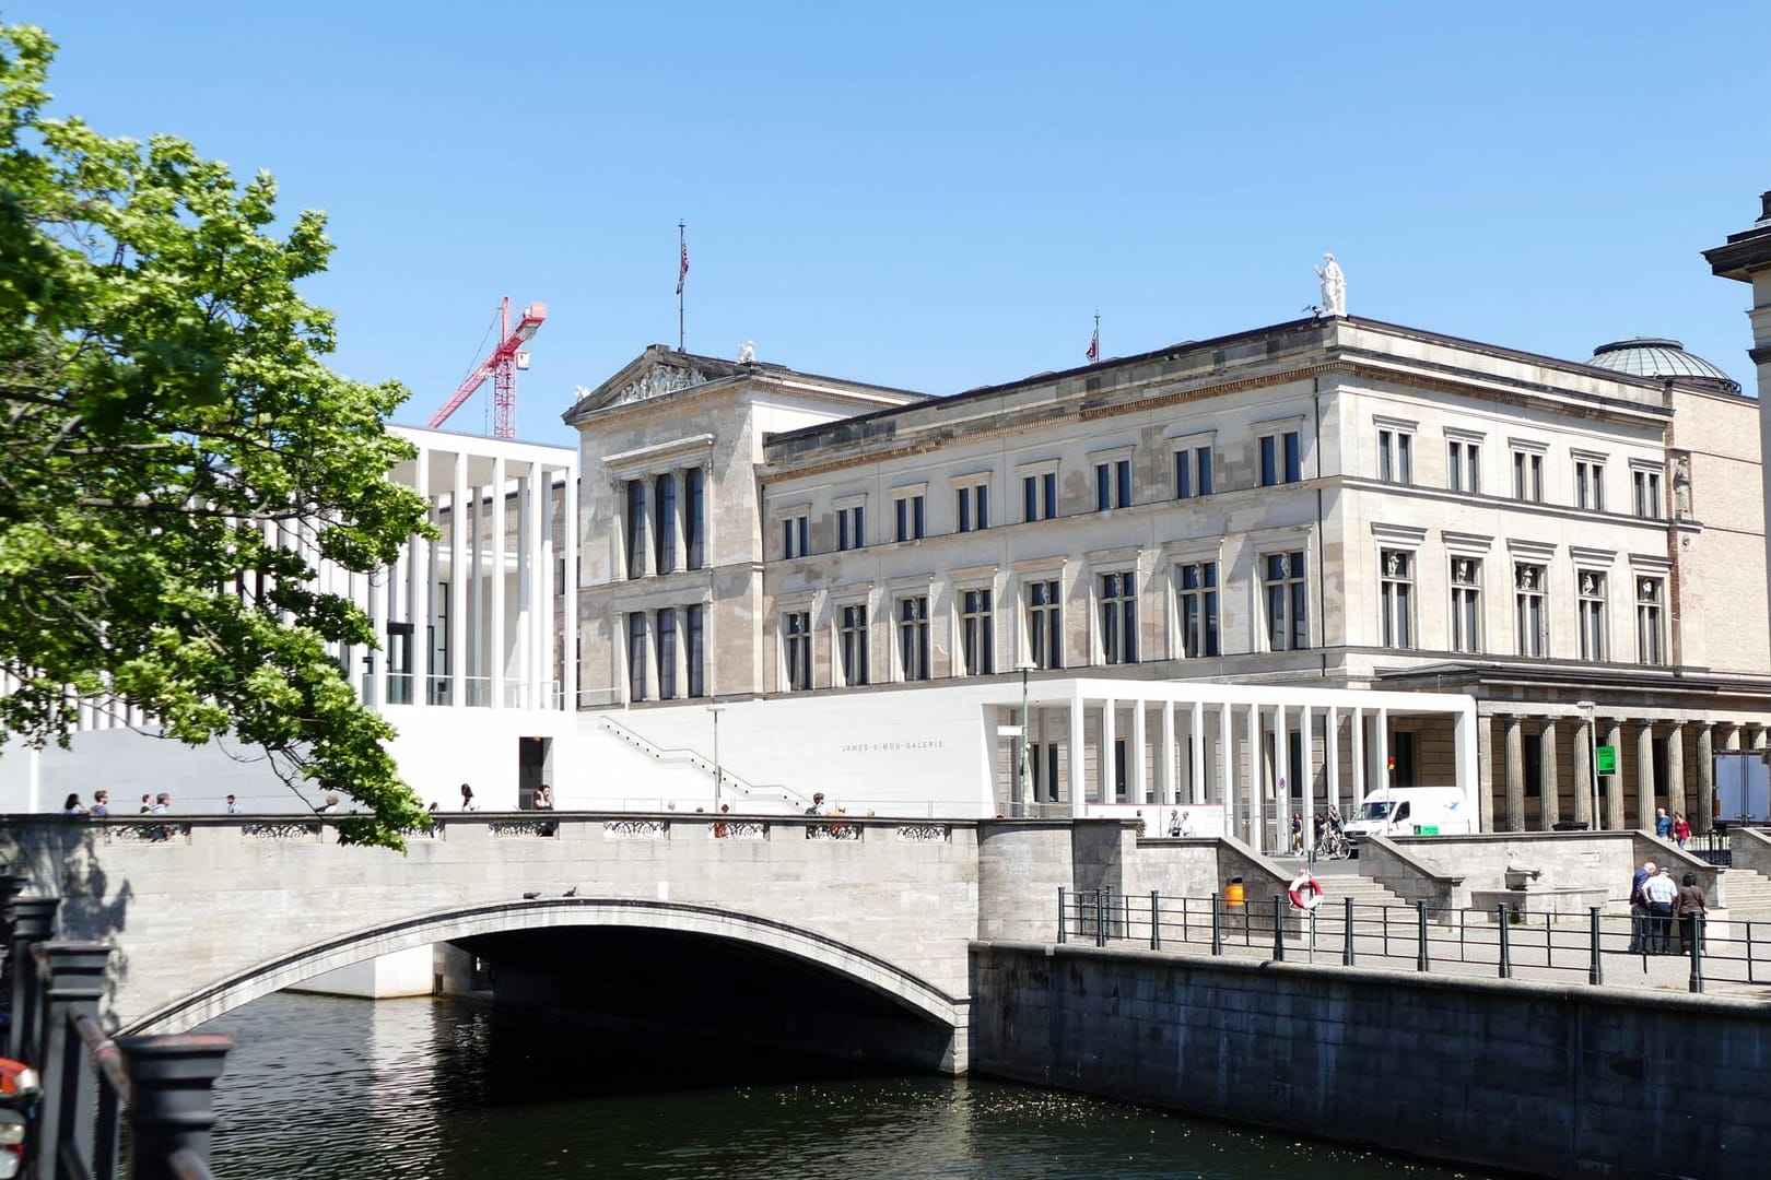
[[[1771,922],[1059,890],[1057,941],[1589,984],[1771,985]],[[1610,980],[1606,975],[1610,973]]]

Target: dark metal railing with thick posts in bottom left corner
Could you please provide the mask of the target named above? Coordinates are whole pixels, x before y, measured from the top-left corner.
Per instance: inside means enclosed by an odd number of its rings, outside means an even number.
[[[43,1100],[27,1141],[35,1180],[211,1180],[211,1086],[228,1037],[112,1038],[99,1000],[113,946],[51,941],[57,897],[18,897],[0,876],[7,1056],[34,1065]]]

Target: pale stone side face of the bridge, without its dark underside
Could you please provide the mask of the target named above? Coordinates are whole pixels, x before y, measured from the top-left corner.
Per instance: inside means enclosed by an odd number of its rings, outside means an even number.
[[[577,915],[671,927],[671,908],[700,915],[698,931],[790,954],[831,946],[832,962],[859,955],[875,964],[870,985],[901,977],[905,994],[955,1005],[969,989],[976,821],[712,812],[436,821],[400,856],[340,846],[322,816],[11,816],[0,862],[28,879],[27,892],[64,899],[62,938],[120,948],[110,1005],[126,1030],[179,1031],[225,1010],[186,1003],[197,992],[221,987],[232,1007],[354,959],[498,923],[563,925]],[[262,987],[227,991],[227,980],[246,978]],[[184,1015],[156,1015],[165,1012]]]

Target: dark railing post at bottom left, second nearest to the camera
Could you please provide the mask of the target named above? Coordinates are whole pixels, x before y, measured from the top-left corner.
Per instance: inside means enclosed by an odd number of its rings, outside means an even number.
[[[104,998],[104,943],[39,943],[32,948],[43,984],[37,1012],[37,1072],[44,1102],[37,1109],[41,1159],[58,1161],[64,1143],[78,1143],[80,1159],[92,1157],[96,1088],[85,1076],[87,1044],[69,1026],[69,1008]]]

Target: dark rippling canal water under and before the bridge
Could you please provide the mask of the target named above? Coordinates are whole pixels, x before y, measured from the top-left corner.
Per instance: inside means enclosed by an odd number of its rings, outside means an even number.
[[[216,1086],[225,1178],[1481,1175],[1031,1086],[852,1076],[445,1000],[283,992],[202,1031],[236,1038]]]

